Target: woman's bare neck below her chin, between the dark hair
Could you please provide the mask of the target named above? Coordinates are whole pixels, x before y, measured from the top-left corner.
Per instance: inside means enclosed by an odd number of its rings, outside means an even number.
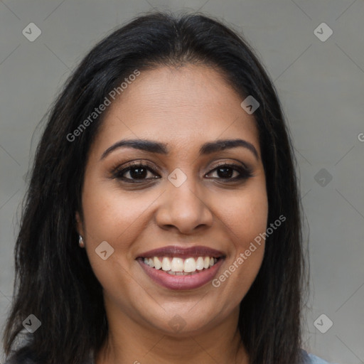
[[[238,308],[206,331],[164,333],[136,323],[128,316],[109,321],[109,334],[95,364],[248,364],[237,328]]]

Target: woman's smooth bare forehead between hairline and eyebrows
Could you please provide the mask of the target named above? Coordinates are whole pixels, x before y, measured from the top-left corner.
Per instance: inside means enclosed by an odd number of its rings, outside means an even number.
[[[141,138],[186,149],[239,137],[254,144],[260,154],[255,119],[241,102],[223,75],[208,66],[141,71],[109,105],[95,148]]]

